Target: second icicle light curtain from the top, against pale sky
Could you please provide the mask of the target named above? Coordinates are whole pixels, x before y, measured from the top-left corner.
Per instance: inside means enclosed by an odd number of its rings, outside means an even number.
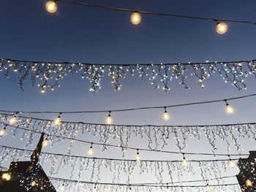
[[[15,118],[15,122],[11,120]],[[0,113],[0,122],[6,131],[6,124],[21,128],[28,128],[46,134],[76,138],[78,132],[97,135],[103,147],[107,146],[110,140],[115,139],[120,142],[120,146],[128,147],[132,137],[142,137],[148,140],[148,149],[163,149],[170,138],[176,141],[176,147],[183,153],[187,147],[187,140],[200,140],[203,135],[211,146],[211,153],[216,153],[217,143],[224,142],[227,150],[235,147],[239,154],[243,148],[238,139],[256,139],[256,124],[244,123],[233,125],[212,125],[212,126],[125,126],[125,125],[102,125],[93,123],[75,123],[61,121],[60,125],[55,125],[53,120],[24,117],[18,113],[10,115]],[[29,143],[32,143],[34,134],[29,134]]]

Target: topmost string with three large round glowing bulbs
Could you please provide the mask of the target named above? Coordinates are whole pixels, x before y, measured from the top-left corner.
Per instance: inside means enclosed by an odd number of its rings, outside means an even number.
[[[170,13],[164,13],[164,12],[148,12],[148,11],[143,11],[143,10],[110,7],[110,6],[100,5],[100,4],[91,4],[91,3],[86,3],[86,2],[68,1],[68,0],[48,1],[45,4],[45,8],[47,9],[48,12],[54,13],[57,11],[57,3],[58,2],[66,3],[66,4],[75,4],[75,5],[84,6],[84,7],[94,7],[97,9],[108,9],[110,11],[131,12],[132,15],[130,16],[130,21],[134,25],[140,24],[140,22],[142,20],[141,15],[156,15],[156,16],[164,16],[164,17],[171,17],[171,18],[183,18],[183,19],[189,19],[189,20],[204,20],[204,21],[214,22],[214,23],[216,23],[216,31],[218,34],[227,33],[227,30],[228,30],[227,23],[244,23],[244,24],[256,25],[255,22],[246,21],[246,20],[202,18],[202,17],[195,17],[195,16],[189,16],[189,15],[176,15],[176,14],[170,14]]]

